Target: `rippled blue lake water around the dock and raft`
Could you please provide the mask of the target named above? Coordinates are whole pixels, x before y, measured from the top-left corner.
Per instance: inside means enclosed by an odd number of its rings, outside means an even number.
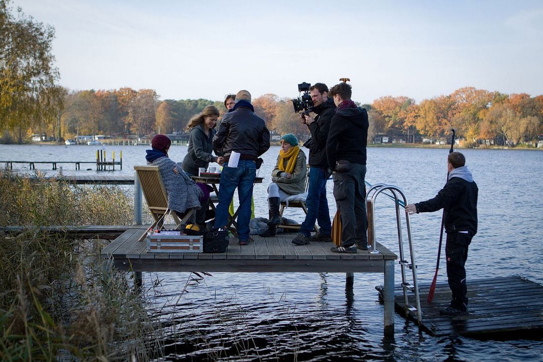
[[[0,145],[0,160],[93,161],[96,149],[87,145]],[[103,149],[108,160],[112,150],[117,158],[118,151],[123,151],[123,170],[110,173],[131,174],[134,164],[144,164],[148,147]],[[171,158],[181,161],[186,149],[173,146]],[[466,263],[468,280],[521,275],[543,283],[543,152],[460,151],[479,186],[479,228]],[[267,216],[266,188],[278,153],[279,147],[274,146],[264,155],[260,176],[267,180],[255,186],[257,216]],[[408,202],[432,198],[445,183],[447,153],[446,149],[368,148],[367,181],[401,187]],[[58,173],[50,165],[37,167],[46,175]],[[64,166],[64,173],[74,173],[73,168]],[[333,215],[332,182],[327,189]],[[304,215],[292,211],[287,216],[301,221]],[[411,217],[420,283],[433,278],[440,222],[441,212]],[[376,238],[397,253],[395,233],[393,202],[379,196]],[[443,261],[441,265],[438,282],[445,282]],[[215,273],[188,286],[190,293],[180,298],[187,277],[187,273],[144,273],[149,306],[168,321],[167,360],[542,360],[540,338],[435,338],[419,333],[413,322],[399,315],[395,316],[394,338],[384,338],[383,307],[374,289],[383,283],[381,274],[355,274],[353,290],[349,291],[344,274]],[[401,281],[397,267],[395,280]],[[158,287],[151,288],[155,281],[160,281]]]

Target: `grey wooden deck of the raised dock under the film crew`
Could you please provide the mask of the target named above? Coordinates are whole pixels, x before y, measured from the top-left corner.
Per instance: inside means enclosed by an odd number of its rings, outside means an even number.
[[[153,253],[147,252],[143,236],[147,225],[134,225],[106,246],[102,257],[112,257],[120,269],[135,271],[255,271],[255,272],[383,272],[384,261],[396,255],[378,245],[383,252],[372,255],[359,250],[357,254],[330,251],[331,243],[295,246],[295,233],[281,233],[240,246],[230,238],[225,253]],[[142,240],[142,241],[138,241]]]

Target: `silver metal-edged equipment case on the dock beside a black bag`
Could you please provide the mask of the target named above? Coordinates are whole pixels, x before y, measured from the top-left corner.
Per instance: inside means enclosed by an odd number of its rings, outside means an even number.
[[[178,230],[152,232],[147,237],[147,251],[155,253],[201,253],[202,236],[181,234]]]

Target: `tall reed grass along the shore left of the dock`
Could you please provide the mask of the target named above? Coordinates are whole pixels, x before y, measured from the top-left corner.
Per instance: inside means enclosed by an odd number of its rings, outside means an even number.
[[[127,225],[131,200],[118,187],[79,187],[0,174],[0,360],[146,361],[161,329],[126,274],[99,258],[100,241],[39,231],[48,225]],[[150,313],[151,312],[151,313]]]

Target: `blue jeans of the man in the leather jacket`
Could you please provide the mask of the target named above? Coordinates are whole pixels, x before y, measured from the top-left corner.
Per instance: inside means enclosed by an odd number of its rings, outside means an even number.
[[[251,219],[252,186],[256,177],[255,161],[239,160],[238,167],[223,165],[219,183],[219,204],[215,213],[213,227],[223,227],[228,224],[228,207],[238,189],[239,211],[237,215],[237,232],[239,240],[249,240],[249,220]]]

